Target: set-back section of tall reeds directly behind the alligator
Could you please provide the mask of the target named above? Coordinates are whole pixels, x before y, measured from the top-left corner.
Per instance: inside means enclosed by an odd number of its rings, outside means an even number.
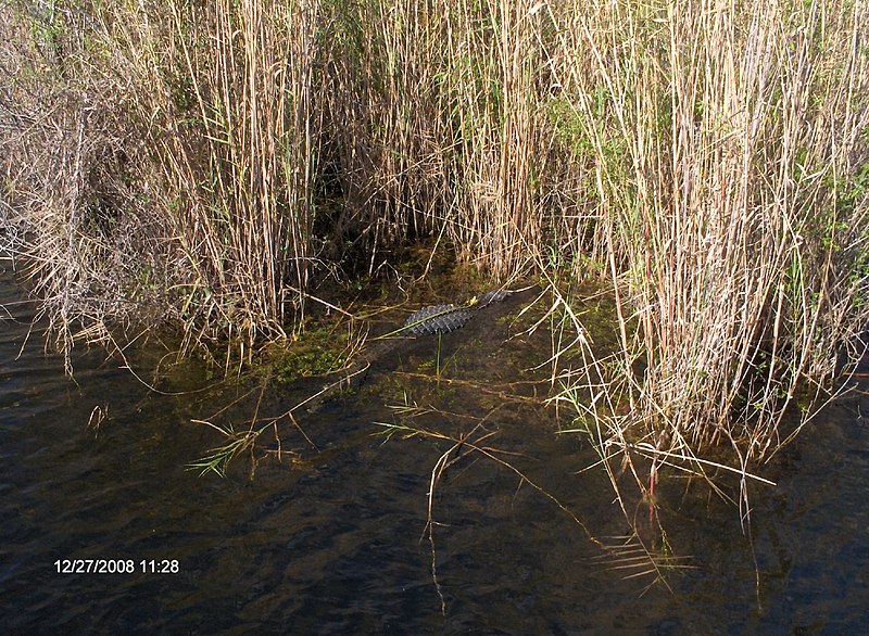
[[[540,11],[525,1],[330,8],[339,237],[365,244],[370,267],[378,246],[429,234],[490,276],[527,267],[547,238]]]

